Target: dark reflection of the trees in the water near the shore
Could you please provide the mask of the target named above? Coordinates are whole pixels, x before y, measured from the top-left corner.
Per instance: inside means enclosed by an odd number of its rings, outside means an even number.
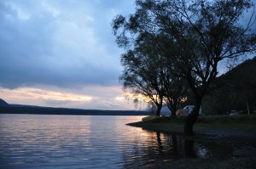
[[[185,139],[183,134],[143,130],[143,144],[132,144],[124,153],[125,168],[147,166],[154,162],[175,161],[181,158],[207,158],[210,151],[197,140]]]

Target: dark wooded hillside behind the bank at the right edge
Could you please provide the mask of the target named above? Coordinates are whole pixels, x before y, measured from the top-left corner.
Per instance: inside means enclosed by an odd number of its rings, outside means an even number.
[[[252,113],[256,110],[256,57],[247,59],[222,76],[213,85],[217,90],[205,97],[202,110],[222,115],[230,110]]]

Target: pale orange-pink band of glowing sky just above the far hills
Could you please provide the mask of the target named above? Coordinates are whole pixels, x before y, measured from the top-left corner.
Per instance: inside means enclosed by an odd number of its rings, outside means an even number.
[[[0,96],[9,104],[96,110],[138,109],[137,105],[125,98],[122,87],[118,86],[84,86],[67,90],[58,87],[0,87]]]

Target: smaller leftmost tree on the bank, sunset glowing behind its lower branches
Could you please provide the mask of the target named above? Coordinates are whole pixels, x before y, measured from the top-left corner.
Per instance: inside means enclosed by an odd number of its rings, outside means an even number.
[[[127,92],[141,94],[143,99],[155,104],[156,115],[160,115],[165,96],[165,67],[162,65],[164,57],[160,56],[155,41],[154,35],[143,33],[134,48],[121,56],[124,71],[120,81]]]

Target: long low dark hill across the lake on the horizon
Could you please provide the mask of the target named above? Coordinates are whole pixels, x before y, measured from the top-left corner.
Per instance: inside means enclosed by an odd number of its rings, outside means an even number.
[[[150,115],[148,111],[137,110],[82,110],[53,108],[34,105],[7,104],[0,99],[0,114],[42,114],[42,115]]]

